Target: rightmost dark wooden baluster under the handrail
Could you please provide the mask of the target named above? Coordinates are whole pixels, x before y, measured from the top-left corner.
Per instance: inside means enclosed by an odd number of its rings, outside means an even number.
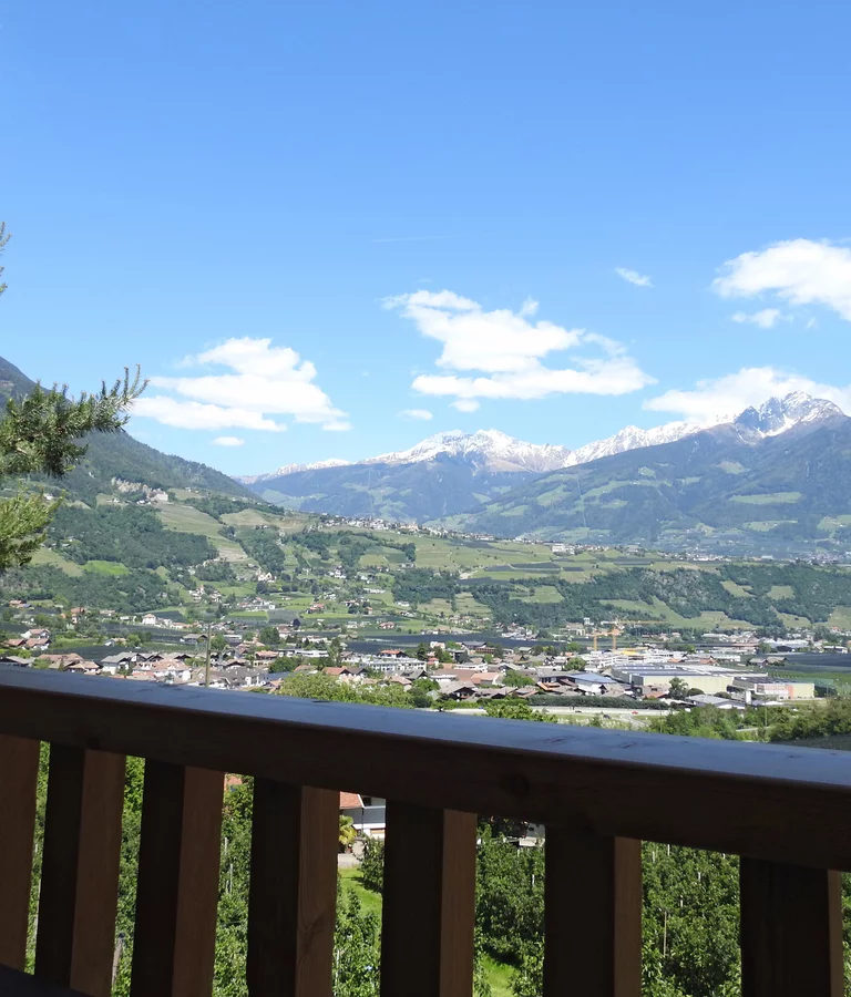
[[[842,886],[820,868],[742,859],[742,997],[842,997]]]

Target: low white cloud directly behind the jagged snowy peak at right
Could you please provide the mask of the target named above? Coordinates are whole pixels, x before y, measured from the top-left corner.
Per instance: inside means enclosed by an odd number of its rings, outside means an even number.
[[[644,403],[654,412],[673,412],[687,422],[711,424],[720,418],[732,418],[766,399],[804,391],[814,398],[827,398],[845,412],[851,412],[851,384],[822,384],[800,374],[773,367],[744,367],[736,373],[698,381],[691,391],[666,391]]]

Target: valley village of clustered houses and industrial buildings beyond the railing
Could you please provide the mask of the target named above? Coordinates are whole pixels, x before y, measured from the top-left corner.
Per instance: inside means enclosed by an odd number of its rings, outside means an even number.
[[[150,617],[141,618],[142,625],[151,623]],[[695,650],[673,650],[660,640],[618,649],[613,629],[613,647],[599,649],[597,631],[587,629],[593,636],[580,644],[583,627],[573,628],[565,635],[571,638],[566,646],[547,640],[546,646],[530,641],[503,647],[422,635],[416,648],[363,651],[350,649],[345,636],[307,635],[291,624],[267,626],[249,636],[217,623],[205,633],[181,631],[174,640],[182,646],[176,648],[114,643],[104,648],[109,652],[86,658],[74,650],[51,650],[50,629],[32,627],[19,637],[6,637],[0,665],[247,691],[277,691],[291,676],[321,675],[342,686],[417,690],[417,705],[431,709],[481,708],[504,699],[544,709],[578,709],[605,699],[606,706],[619,700],[617,706],[634,707],[636,713],[643,703],[744,710],[755,701],[786,703],[816,697],[814,681],[770,674],[785,655],[811,646],[803,636],[773,641],[775,654],[765,639],[748,634],[708,634],[715,643]],[[512,643],[517,644],[516,631],[513,635]],[[768,652],[758,654],[759,649]]]

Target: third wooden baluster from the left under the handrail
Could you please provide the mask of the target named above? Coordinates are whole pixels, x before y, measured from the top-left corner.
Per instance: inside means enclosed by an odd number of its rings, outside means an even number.
[[[208,997],[224,773],[145,762],[132,997]]]

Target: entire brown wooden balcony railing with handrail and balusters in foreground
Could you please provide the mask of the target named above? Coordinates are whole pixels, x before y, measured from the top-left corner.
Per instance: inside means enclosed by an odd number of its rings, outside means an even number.
[[[133,997],[211,993],[225,772],[255,777],[252,997],[331,995],[339,790],[389,801],[382,997],[470,997],[475,814],[546,825],[545,997],[640,994],[642,840],[742,856],[745,997],[842,995],[851,756],[0,669],[0,965],[13,969],[39,741],[33,986],[110,993],[124,759],[141,756]]]

